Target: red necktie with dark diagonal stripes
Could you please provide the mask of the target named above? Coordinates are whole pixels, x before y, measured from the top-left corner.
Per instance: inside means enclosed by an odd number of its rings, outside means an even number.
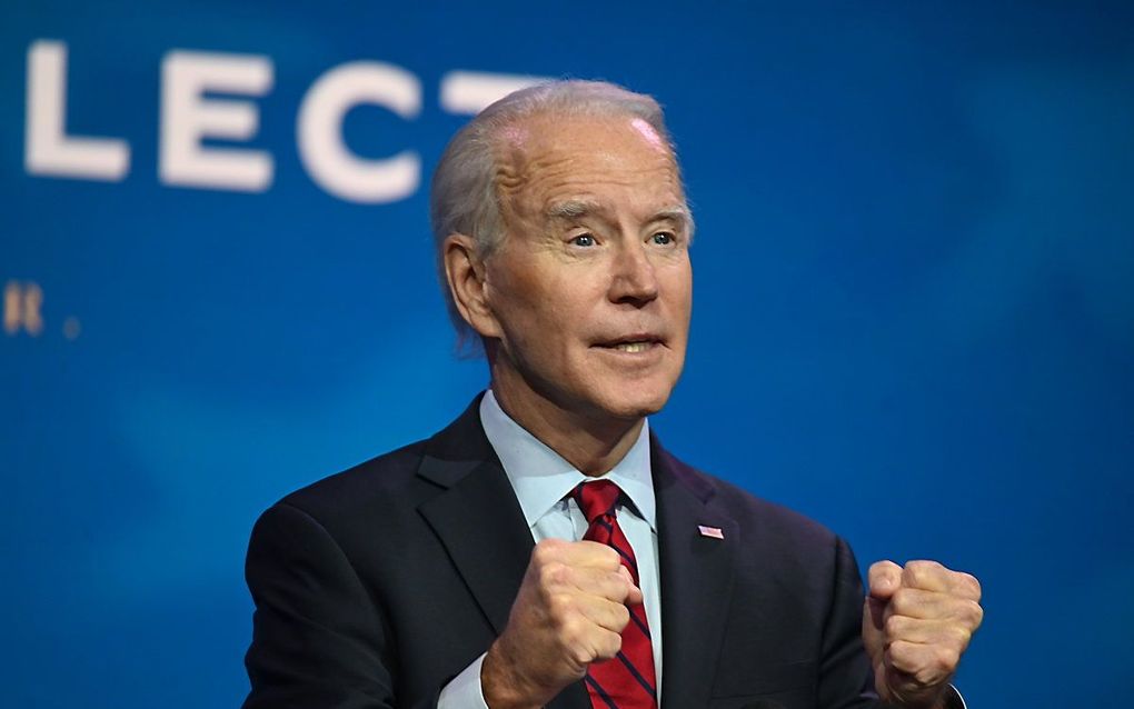
[[[583,539],[607,545],[623,558],[623,566],[638,583],[634,549],[618,526],[615,506],[621,490],[609,480],[581,483],[572,492],[590,527]],[[623,631],[623,649],[618,656],[593,662],[586,670],[586,689],[594,709],[657,709],[658,683],[653,672],[653,648],[645,606],[629,606],[631,622]]]

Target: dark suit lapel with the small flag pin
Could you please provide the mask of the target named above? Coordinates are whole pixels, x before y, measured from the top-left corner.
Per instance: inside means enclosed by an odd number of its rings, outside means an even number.
[[[735,522],[706,503],[712,483],[651,438],[661,566],[663,707],[705,707],[733,586]],[[723,539],[699,526],[719,529]]]

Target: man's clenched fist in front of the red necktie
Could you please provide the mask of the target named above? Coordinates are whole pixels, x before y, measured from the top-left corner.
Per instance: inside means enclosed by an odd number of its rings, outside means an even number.
[[[615,657],[627,604],[642,591],[618,552],[592,541],[547,539],[535,546],[508,625],[481,665],[492,709],[542,707],[591,662]]]

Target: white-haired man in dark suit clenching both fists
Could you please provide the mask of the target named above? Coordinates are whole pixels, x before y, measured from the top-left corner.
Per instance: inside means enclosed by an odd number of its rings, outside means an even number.
[[[511,94],[452,140],[432,200],[491,388],[264,513],[246,708],[962,706],[975,579],[882,562],[864,604],[843,540],[650,431],[693,293],[652,99]]]

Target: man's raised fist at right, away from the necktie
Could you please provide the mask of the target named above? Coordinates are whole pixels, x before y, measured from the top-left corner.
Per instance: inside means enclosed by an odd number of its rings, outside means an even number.
[[[981,584],[937,562],[870,567],[862,639],[879,695],[903,707],[933,709],[981,624]]]

